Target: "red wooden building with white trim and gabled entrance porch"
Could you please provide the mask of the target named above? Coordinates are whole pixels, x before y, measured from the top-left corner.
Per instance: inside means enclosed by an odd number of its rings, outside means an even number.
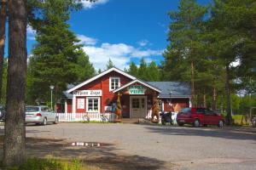
[[[109,112],[118,94],[122,116],[144,118],[152,108],[153,96],[162,111],[179,111],[189,106],[190,88],[181,82],[144,82],[117,68],[104,71],[66,91],[65,112]]]

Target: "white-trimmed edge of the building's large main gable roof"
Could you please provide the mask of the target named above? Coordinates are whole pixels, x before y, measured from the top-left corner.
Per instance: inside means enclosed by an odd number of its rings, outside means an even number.
[[[86,81],[84,81],[84,82],[82,82],[82,83],[79,83],[77,86],[74,86],[73,88],[68,89],[66,92],[67,92],[67,94],[70,94],[70,93],[73,92],[74,90],[83,87],[85,84],[88,84],[89,82],[92,82],[92,81],[94,81],[94,80],[96,80],[96,79],[98,79],[98,78],[100,78],[100,77],[102,77],[102,76],[108,74],[108,73],[111,72],[111,71],[116,71],[116,72],[118,72],[119,74],[121,74],[121,75],[123,75],[123,76],[125,76],[125,77],[131,78],[131,80],[135,80],[135,79],[136,79],[136,77],[133,77],[133,76],[131,76],[130,74],[125,73],[124,71],[121,71],[121,70],[119,70],[119,69],[117,69],[117,68],[115,68],[115,67],[112,67],[111,69],[108,69],[107,71],[103,71],[101,74],[98,74],[98,75],[95,76],[95,77],[91,77],[90,79],[88,79],[88,80],[86,80]]]

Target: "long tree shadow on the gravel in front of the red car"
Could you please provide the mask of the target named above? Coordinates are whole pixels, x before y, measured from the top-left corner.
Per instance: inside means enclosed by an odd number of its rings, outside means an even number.
[[[145,126],[151,133],[162,133],[167,135],[201,136],[223,139],[256,140],[256,130],[253,128],[239,127],[164,127]]]

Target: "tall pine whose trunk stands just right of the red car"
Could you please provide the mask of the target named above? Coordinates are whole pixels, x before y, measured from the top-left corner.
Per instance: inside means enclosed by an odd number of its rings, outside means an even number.
[[[243,46],[239,31],[233,29],[236,26],[236,20],[233,18],[233,14],[228,12],[230,8],[236,8],[233,6],[233,2],[215,0],[212,8],[212,17],[209,21],[212,33],[211,45],[214,47],[212,54],[216,56],[218,63],[224,68],[227,124],[232,123],[231,94],[234,92],[233,86],[237,70],[237,67],[234,67],[232,63],[241,59],[242,55],[239,51]]]

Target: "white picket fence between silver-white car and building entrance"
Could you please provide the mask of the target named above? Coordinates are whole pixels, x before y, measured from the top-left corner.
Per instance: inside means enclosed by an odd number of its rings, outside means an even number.
[[[106,116],[107,120],[104,120],[102,115]],[[57,116],[59,122],[83,122],[84,116],[89,117],[90,122],[114,122],[114,113],[57,113]]]

